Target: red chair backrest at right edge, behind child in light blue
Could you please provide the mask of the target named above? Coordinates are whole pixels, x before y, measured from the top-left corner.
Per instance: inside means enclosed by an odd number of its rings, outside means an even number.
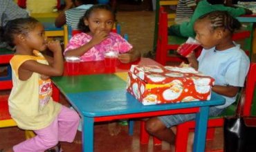
[[[255,95],[256,84],[256,63],[250,64],[250,69],[246,79],[246,97],[243,107],[243,115],[255,115],[256,111],[256,97]]]

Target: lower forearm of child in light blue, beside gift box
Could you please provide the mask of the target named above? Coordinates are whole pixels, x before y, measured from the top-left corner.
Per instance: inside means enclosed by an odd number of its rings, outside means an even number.
[[[227,97],[235,97],[235,95],[237,95],[238,91],[239,91],[239,87],[238,86],[219,86],[219,85],[215,85],[212,86],[212,91],[214,91],[215,93],[218,93],[220,95],[225,95]]]

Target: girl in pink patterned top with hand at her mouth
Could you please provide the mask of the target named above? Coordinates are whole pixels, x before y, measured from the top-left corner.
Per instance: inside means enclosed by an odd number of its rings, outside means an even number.
[[[123,63],[136,61],[140,53],[120,35],[111,32],[115,21],[115,14],[109,6],[98,4],[89,8],[78,25],[82,32],[71,38],[64,56],[75,55],[82,61],[98,61],[104,59],[104,52],[113,50]]]

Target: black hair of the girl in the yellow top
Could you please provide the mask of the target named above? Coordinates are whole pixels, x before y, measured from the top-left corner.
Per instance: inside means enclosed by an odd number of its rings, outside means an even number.
[[[39,21],[33,17],[12,19],[6,23],[6,26],[1,27],[1,41],[6,41],[8,45],[13,47],[15,46],[15,35],[27,35],[37,23]]]

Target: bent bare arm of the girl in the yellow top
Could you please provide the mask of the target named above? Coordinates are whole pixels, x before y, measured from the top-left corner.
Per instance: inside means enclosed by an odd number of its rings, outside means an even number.
[[[50,65],[40,64],[35,60],[28,60],[19,68],[19,79],[26,80],[33,73],[41,75],[59,76],[63,73],[63,57],[60,41],[49,41],[48,48],[53,52],[53,63]]]

